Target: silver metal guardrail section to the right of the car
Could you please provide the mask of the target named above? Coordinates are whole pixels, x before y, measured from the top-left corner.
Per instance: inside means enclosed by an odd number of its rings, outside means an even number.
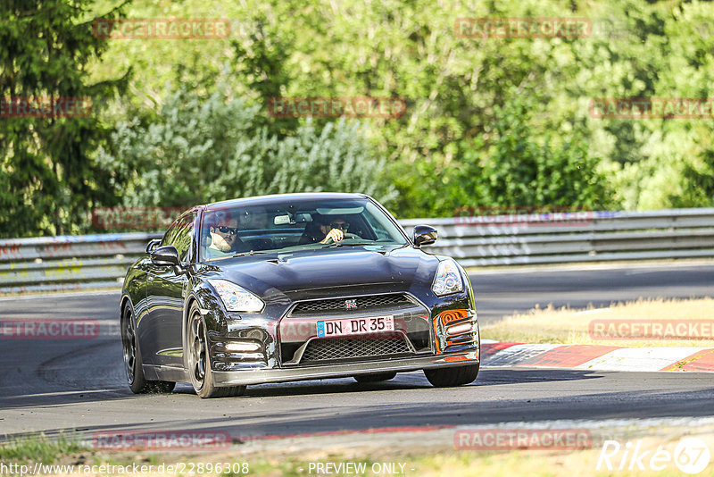
[[[439,230],[429,250],[463,266],[714,257],[714,208],[402,221]]]

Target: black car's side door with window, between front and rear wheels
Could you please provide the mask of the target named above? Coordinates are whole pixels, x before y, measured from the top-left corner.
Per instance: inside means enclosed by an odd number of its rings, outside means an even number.
[[[163,236],[161,246],[172,245],[187,264],[194,236],[195,214],[180,217]],[[183,367],[182,324],[187,273],[168,265],[150,264],[146,274],[147,325],[150,335],[146,363]],[[142,354],[144,354],[142,347]]]

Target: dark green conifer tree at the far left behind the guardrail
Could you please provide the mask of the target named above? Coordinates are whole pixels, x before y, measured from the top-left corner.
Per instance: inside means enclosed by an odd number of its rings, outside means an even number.
[[[93,37],[89,0],[3,0],[0,12],[0,98],[17,104],[60,105],[62,98],[91,102],[87,117],[0,119],[0,235],[76,233],[93,205],[114,200],[109,175],[93,159],[108,137],[98,120],[103,98],[120,93],[120,79],[89,82],[89,64],[106,40]],[[111,15],[118,14],[113,11]],[[59,102],[59,103],[58,103]],[[37,103],[35,103],[37,104]]]

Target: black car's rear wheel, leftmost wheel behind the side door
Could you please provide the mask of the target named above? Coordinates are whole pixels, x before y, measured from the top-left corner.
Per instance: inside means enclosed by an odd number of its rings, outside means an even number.
[[[145,378],[141,350],[137,342],[137,325],[131,306],[124,306],[121,314],[121,354],[129,389],[134,394],[167,393],[176,386],[172,381],[149,381]]]

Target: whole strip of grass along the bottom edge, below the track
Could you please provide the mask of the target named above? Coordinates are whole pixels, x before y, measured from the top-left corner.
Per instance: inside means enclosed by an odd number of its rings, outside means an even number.
[[[269,477],[302,477],[304,475],[317,474],[315,465],[340,463],[365,464],[366,472],[363,475],[390,475],[392,472],[386,469],[393,469],[400,475],[419,476],[449,476],[449,475],[533,475],[533,476],[605,476],[605,475],[681,475],[673,461],[666,462],[666,469],[661,473],[653,473],[649,468],[644,471],[635,472],[624,468],[618,469],[620,462],[625,462],[622,458],[624,450],[612,456],[610,462],[615,466],[611,471],[604,466],[596,470],[597,463],[602,454],[602,442],[604,439],[617,439],[624,449],[626,442],[639,442],[642,444],[642,451],[650,450],[650,455],[656,449],[662,448],[674,455],[677,443],[684,437],[696,437],[702,439],[703,443],[710,449],[714,449],[714,427],[703,425],[693,429],[690,427],[668,427],[658,426],[657,428],[637,428],[629,430],[606,429],[593,431],[593,448],[583,450],[557,450],[557,449],[518,449],[504,451],[477,451],[453,448],[452,436],[444,434],[444,441],[436,440],[424,446],[414,445],[414,437],[407,438],[402,442],[398,437],[394,437],[392,444],[383,442],[374,444],[369,448],[364,448],[364,443],[358,444],[355,448],[349,442],[336,442],[326,444],[325,447],[315,446],[309,443],[303,446],[298,441],[283,442],[279,446],[270,448],[257,448],[253,452],[242,453],[241,447],[232,448],[230,451],[221,453],[202,453],[200,456],[184,453],[166,453],[156,455],[145,452],[110,452],[95,453],[91,449],[83,448],[71,437],[60,436],[56,440],[46,438],[42,434],[32,435],[21,439],[12,439],[5,442],[0,447],[0,462],[27,462],[40,461],[50,463],[58,456],[63,456],[63,461],[77,463],[76,456],[79,452],[83,455],[89,454],[87,464],[130,464],[141,462],[141,464],[154,464],[154,471],[143,475],[157,475],[156,465],[160,463],[237,463],[242,469],[242,463],[248,463],[248,472],[227,472],[225,464],[222,464],[222,473],[204,472],[206,475],[261,475]],[[304,439],[309,441],[310,439]],[[639,447],[640,444],[637,444]],[[243,454],[241,456],[241,454]],[[74,458],[72,458],[74,456]],[[71,460],[68,460],[71,459]],[[630,460],[627,459],[627,464]],[[312,464],[312,467],[311,467]],[[386,464],[387,467],[381,467]],[[401,465],[403,464],[403,465]],[[648,464],[647,459],[643,464]],[[374,465],[374,467],[373,467]],[[197,467],[196,467],[197,468]],[[205,467],[203,467],[205,468]],[[335,467],[333,467],[334,471]],[[350,471],[350,468],[344,468]],[[379,471],[382,472],[379,472]],[[207,469],[206,469],[207,471]],[[403,471],[403,473],[401,473]],[[355,473],[333,472],[332,475],[354,475]],[[698,475],[714,475],[714,460],[709,466]]]

